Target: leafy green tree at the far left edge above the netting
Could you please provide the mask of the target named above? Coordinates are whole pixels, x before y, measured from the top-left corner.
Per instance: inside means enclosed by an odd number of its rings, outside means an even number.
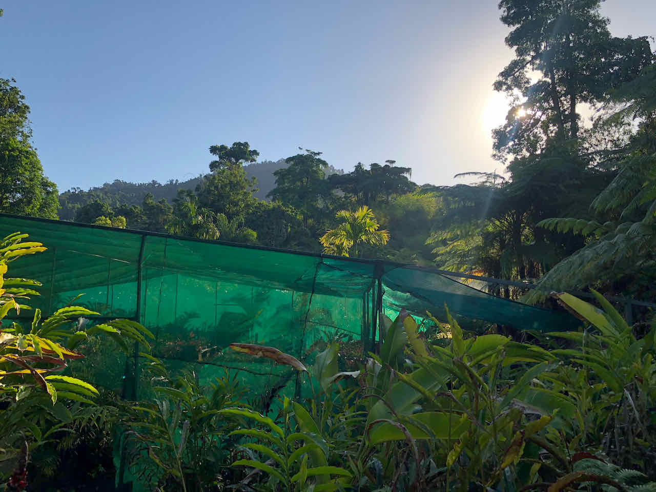
[[[13,79],[0,79],[0,212],[57,218],[57,187],[30,143],[30,107]]]

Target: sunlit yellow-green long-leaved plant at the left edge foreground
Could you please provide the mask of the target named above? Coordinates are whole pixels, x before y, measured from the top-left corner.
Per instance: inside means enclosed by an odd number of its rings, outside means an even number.
[[[92,335],[107,334],[126,351],[127,340],[139,341],[146,348],[146,337],[152,334],[134,321],[115,319],[108,323],[85,325],[81,316],[97,312],[81,306],[66,306],[47,319],[35,309],[30,318],[18,318],[30,310],[22,304],[39,295],[35,287],[41,283],[23,278],[5,278],[8,266],[26,255],[45,251],[41,243],[24,241],[27,234],[15,233],[0,243],[0,319],[16,313],[14,322],[0,329],[0,449],[2,466],[24,459],[27,451],[61,439],[60,432],[71,432],[70,426],[88,418],[84,405],[92,401],[98,390],[89,382],[62,375],[70,361],[84,356],[77,347]],[[28,323],[19,321],[28,319]],[[84,420],[83,420],[84,421]],[[73,422],[73,423],[72,423]],[[66,426],[69,426],[67,428]],[[20,468],[20,466],[19,466]],[[26,478],[24,478],[26,480]]]

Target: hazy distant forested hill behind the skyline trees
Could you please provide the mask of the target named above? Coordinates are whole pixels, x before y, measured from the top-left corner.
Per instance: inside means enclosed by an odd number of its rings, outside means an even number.
[[[253,196],[262,200],[267,199],[266,194],[276,186],[274,172],[277,169],[287,166],[288,164],[285,162],[285,159],[261,161],[245,165],[244,169],[247,176],[257,179],[258,191],[253,193]],[[329,166],[326,170],[326,175],[329,176],[331,174],[344,174],[344,171]],[[203,178],[203,174],[186,181],[171,179],[165,183],[155,180],[146,183],[132,183],[116,179],[102,186],[93,186],[89,190],[71,188],[59,195],[59,203],[61,205],[59,218],[61,220],[73,220],[75,218],[75,211],[79,207],[83,207],[94,200],[107,203],[111,207],[117,207],[118,205],[140,206],[144,202],[144,197],[150,193],[153,195],[154,201],[165,199],[167,202],[173,203],[178,190],[195,190],[201,178]]]

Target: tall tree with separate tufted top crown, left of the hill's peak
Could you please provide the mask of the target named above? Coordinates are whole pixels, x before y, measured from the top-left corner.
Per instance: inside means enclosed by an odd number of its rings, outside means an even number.
[[[211,146],[210,153],[218,156],[218,160],[209,165],[213,173],[205,176],[196,187],[198,203],[239,225],[253,207],[253,192],[257,191],[257,181],[246,175],[243,163],[255,161],[259,154],[249,149],[248,142],[235,142],[230,148]]]

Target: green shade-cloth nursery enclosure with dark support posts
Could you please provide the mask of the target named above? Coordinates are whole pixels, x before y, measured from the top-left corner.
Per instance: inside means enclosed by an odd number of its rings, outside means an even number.
[[[204,380],[239,371],[253,392],[280,384],[289,368],[224,350],[230,343],[274,346],[311,363],[321,340],[352,342],[357,355],[372,350],[381,310],[396,316],[405,308],[418,319],[428,311],[441,321],[446,304],[461,319],[539,331],[564,329],[574,320],[381,260],[0,216],[0,234],[17,231],[48,248],[14,267],[16,276],[43,283],[33,308],[47,316],[82,295],[75,304],[100,312],[95,321],[134,319],[152,331],[152,354],[172,369],[192,363]],[[146,388],[134,383],[140,359],[126,359],[120,371],[106,367],[100,382],[120,389],[123,398],[142,398]],[[287,386],[293,392],[293,384]]]

